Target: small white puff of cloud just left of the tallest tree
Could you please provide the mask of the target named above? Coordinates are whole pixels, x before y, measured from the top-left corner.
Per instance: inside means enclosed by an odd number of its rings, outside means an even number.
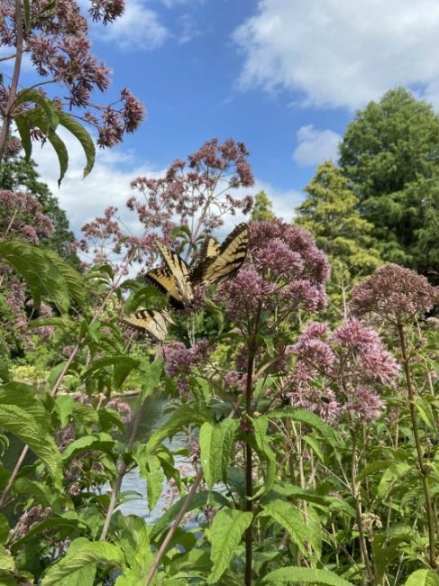
[[[332,130],[318,131],[312,124],[302,126],[296,133],[298,146],[293,152],[297,165],[307,167],[319,165],[325,160],[337,160],[340,134]]]

